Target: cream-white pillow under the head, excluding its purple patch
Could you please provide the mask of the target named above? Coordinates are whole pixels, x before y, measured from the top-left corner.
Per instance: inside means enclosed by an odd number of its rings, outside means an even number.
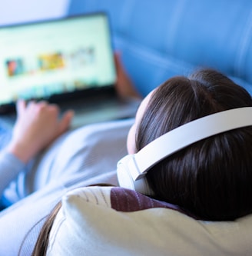
[[[78,188],[65,195],[47,255],[251,255],[252,215],[211,222],[168,208],[115,211],[111,189]]]

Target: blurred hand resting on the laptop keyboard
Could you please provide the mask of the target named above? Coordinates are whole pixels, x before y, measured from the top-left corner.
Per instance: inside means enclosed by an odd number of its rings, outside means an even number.
[[[45,101],[31,101],[28,105],[25,101],[18,101],[17,114],[7,150],[25,163],[64,133],[74,115],[73,111],[67,111],[59,119],[58,107]]]

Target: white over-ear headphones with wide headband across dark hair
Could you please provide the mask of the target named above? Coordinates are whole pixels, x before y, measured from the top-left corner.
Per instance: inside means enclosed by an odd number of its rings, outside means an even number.
[[[144,176],[162,159],[212,135],[252,125],[252,107],[234,108],[191,121],[151,141],[134,155],[118,161],[118,182],[142,194],[153,194]]]

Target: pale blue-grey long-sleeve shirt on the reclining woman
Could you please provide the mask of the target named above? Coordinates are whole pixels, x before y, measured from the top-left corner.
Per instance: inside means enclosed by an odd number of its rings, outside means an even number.
[[[29,165],[2,151],[0,191],[15,204],[0,212],[0,255],[16,256],[19,250],[30,255],[46,216],[67,191],[97,183],[118,185],[115,169],[127,154],[132,123],[111,121],[68,132]]]

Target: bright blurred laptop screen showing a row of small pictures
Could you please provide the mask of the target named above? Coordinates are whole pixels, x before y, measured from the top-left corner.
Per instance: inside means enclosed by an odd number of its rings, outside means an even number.
[[[0,28],[0,105],[114,85],[104,13]]]

